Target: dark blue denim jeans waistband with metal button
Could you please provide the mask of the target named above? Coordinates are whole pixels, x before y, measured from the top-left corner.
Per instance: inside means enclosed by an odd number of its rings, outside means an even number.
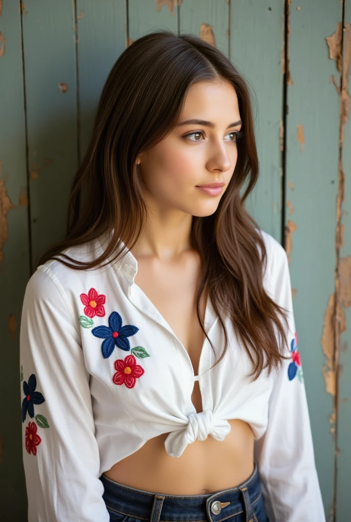
[[[103,474],[103,499],[111,522],[269,522],[255,462],[236,488],[206,495],[166,495],[128,487]]]

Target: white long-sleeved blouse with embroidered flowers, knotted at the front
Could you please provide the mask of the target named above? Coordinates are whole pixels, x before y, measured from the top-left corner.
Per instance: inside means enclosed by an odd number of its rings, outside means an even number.
[[[223,441],[228,419],[248,422],[271,522],[323,522],[310,419],[295,331],[287,255],[270,234],[264,287],[289,311],[279,371],[256,381],[226,319],[228,351],[212,370],[205,339],[198,375],[165,318],[134,283],[137,260],[75,270],[56,260],[38,267],[25,292],[20,326],[23,462],[29,522],[108,522],[102,473],[150,438],[169,433],[168,455],[208,435]],[[101,236],[65,252],[98,257]],[[283,323],[284,324],[284,323]],[[208,298],[205,329],[216,348],[224,335]],[[198,379],[203,411],[191,401]]]

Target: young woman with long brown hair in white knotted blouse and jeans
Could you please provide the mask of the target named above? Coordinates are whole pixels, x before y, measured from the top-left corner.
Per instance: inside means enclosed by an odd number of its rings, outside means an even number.
[[[287,256],[244,206],[258,170],[223,54],[168,31],[121,54],[25,293],[30,522],[325,520]]]

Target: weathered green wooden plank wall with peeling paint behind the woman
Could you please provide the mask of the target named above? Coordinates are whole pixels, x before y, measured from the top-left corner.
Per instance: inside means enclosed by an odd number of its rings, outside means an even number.
[[[351,0],[0,0],[0,518],[26,520],[19,324],[32,267],[64,232],[69,183],[109,70],[149,31],[225,53],[253,96],[248,209],[288,253],[326,519],[351,478]]]

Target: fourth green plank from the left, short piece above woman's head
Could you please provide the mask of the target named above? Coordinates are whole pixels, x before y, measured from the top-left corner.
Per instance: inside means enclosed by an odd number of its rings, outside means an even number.
[[[171,7],[170,7],[171,6]],[[170,30],[178,33],[178,4],[160,0],[128,0],[129,41],[151,31]]]

